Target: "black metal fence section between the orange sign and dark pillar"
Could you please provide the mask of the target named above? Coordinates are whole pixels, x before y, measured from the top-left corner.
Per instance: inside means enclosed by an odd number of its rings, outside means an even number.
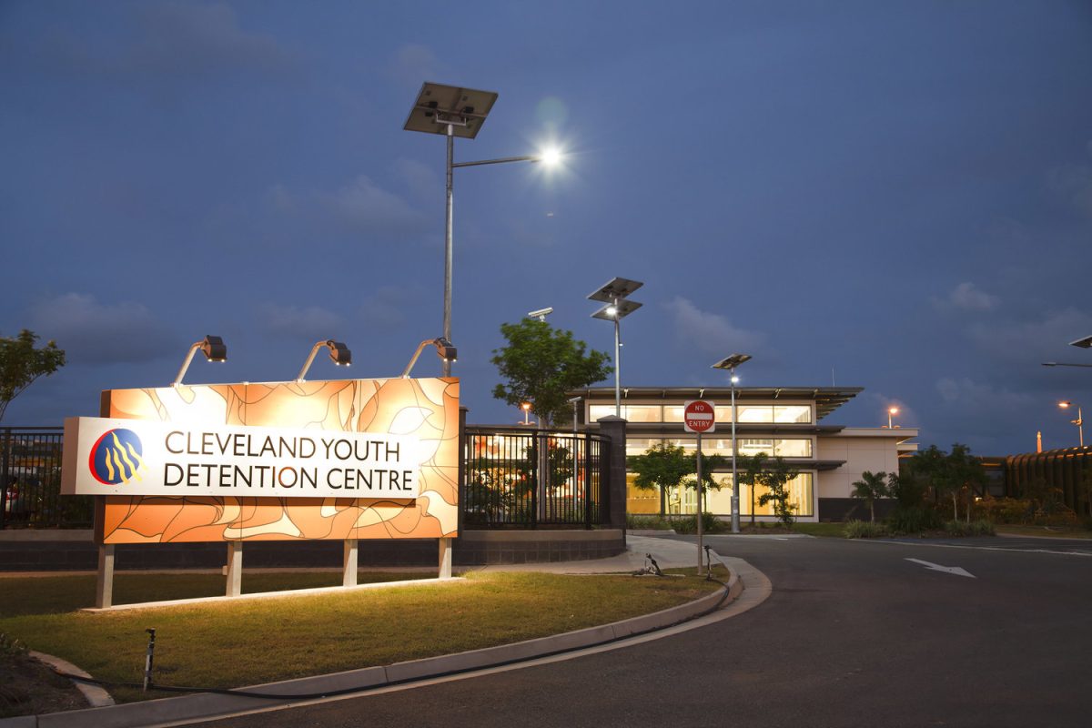
[[[592,528],[607,516],[602,494],[609,440],[520,427],[467,427],[463,527]]]

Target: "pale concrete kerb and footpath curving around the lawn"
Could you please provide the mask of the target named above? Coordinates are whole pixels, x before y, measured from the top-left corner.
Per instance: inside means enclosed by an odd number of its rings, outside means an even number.
[[[698,565],[695,542],[630,535],[625,553],[608,559],[533,564],[482,566],[482,571],[539,571],[563,574],[606,574],[638,572],[650,559],[661,569]],[[250,695],[198,693],[140,703],[126,703],[67,713],[0,719],[0,728],[130,728],[185,725],[256,711],[302,705],[339,696],[358,695],[365,691],[393,689],[425,680],[468,677],[482,670],[501,668],[536,658],[557,656],[587,648],[622,647],[638,640],[651,639],[650,633],[665,628],[691,629],[709,620],[732,617],[761,604],[770,594],[770,582],[750,564],[740,560],[712,554],[714,563],[725,564],[732,573],[727,587],[686,605],[673,607],[633,619],[567,632],[510,645],[500,645],[454,655],[369,667],[332,675],[240,688]],[[746,598],[739,598],[748,589]],[[736,604],[733,604],[733,602]],[[688,624],[681,624],[688,622]],[[670,631],[664,632],[664,634]],[[652,635],[654,636],[654,635]],[[269,695],[263,697],[262,695]],[[276,695],[277,697],[273,697]]]

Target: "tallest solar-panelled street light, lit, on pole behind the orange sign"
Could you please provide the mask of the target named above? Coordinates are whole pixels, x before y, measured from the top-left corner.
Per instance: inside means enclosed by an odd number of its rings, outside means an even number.
[[[454,201],[454,175],[456,167],[477,167],[480,165],[497,165],[508,162],[545,162],[558,159],[556,151],[537,155],[519,157],[502,157],[499,159],[483,159],[480,162],[455,162],[455,136],[474,139],[482,124],[492,109],[497,94],[491,91],[447,86],[426,82],[417,94],[417,100],[410,109],[403,129],[428,134],[442,134],[448,139],[447,162],[447,216],[443,237],[443,338],[451,338],[451,268],[453,262],[453,223],[452,204]],[[451,375],[451,363],[444,360],[443,375]]]

